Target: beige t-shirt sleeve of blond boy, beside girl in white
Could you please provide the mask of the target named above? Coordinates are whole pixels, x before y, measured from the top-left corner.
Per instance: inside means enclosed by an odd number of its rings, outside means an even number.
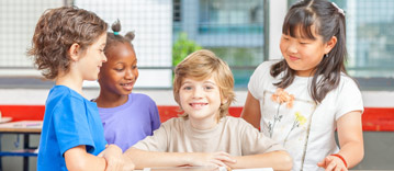
[[[240,132],[243,133],[243,156],[285,150],[282,145],[273,141],[269,137],[266,137],[249,123],[240,121],[239,124],[243,125],[241,127],[244,129]]]

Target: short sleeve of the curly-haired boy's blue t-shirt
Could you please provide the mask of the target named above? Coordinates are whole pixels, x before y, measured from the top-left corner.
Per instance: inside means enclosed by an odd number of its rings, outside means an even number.
[[[72,95],[63,98],[54,109],[52,121],[61,155],[80,145],[87,146],[87,151],[94,149],[86,113],[83,101]]]

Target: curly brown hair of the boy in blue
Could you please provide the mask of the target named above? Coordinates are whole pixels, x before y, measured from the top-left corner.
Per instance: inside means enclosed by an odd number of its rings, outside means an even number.
[[[27,52],[38,70],[47,79],[55,79],[59,70],[68,72],[69,48],[77,43],[85,53],[108,24],[93,12],[76,7],[49,9],[40,18]]]

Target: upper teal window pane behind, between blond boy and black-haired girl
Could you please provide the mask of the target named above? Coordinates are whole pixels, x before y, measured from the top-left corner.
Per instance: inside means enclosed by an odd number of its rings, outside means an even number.
[[[201,34],[262,34],[262,1],[201,0]]]

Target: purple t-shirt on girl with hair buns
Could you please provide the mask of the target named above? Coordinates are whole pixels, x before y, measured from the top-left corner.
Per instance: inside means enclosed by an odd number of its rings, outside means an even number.
[[[156,103],[145,94],[131,93],[126,103],[111,109],[99,107],[99,113],[105,140],[123,151],[160,127]]]

